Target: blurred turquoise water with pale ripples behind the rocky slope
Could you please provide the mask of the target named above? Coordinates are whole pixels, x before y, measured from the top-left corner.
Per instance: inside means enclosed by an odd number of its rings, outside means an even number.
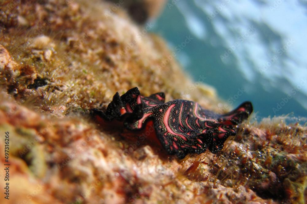
[[[195,80],[204,75],[232,106],[251,101],[260,119],[307,117],[306,5],[172,0],[150,31],[167,40],[186,72]]]

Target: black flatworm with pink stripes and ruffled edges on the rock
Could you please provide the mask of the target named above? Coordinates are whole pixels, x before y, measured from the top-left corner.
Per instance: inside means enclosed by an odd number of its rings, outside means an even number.
[[[184,158],[207,148],[218,153],[225,140],[236,134],[235,126],[253,111],[251,102],[243,102],[229,113],[217,114],[196,102],[177,99],[165,103],[164,100],[162,92],[144,97],[135,87],[122,96],[117,92],[105,112],[93,109],[92,113],[100,122],[121,121],[130,131],[153,125],[156,141],[169,154]]]

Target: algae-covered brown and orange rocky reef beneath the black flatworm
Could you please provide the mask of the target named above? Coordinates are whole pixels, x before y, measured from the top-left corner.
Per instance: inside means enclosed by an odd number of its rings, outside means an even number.
[[[162,39],[110,2],[0,4],[0,130],[10,135],[1,203],[306,202],[305,126],[245,121],[219,154],[165,155],[89,110],[139,87],[227,112],[204,77],[193,83]]]

